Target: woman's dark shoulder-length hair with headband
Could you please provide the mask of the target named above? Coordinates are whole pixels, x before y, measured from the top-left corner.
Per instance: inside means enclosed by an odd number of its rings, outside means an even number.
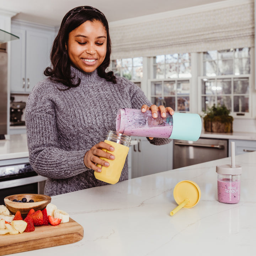
[[[76,84],[73,84],[72,82],[74,77],[72,77],[70,73],[71,62],[68,56],[68,51],[66,49],[69,33],[86,21],[100,21],[106,29],[106,57],[101,65],[97,68],[97,72],[101,78],[105,78],[107,81],[111,81],[116,84],[116,77],[114,76],[113,71],[106,72],[107,67],[110,65],[111,55],[111,40],[107,19],[101,11],[94,7],[79,6],[70,10],[64,16],[58,35],[53,42],[52,52],[50,54],[52,66],[47,67],[44,70],[44,75],[50,76],[50,79],[55,82],[61,82],[62,84],[68,86],[68,89],[70,87],[79,86],[81,82],[80,79]]]

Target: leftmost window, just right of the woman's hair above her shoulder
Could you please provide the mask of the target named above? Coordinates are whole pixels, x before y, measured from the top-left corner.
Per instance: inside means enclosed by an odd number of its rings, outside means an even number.
[[[143,78],[143,57],[115,59],[111,61],[114,75],[125,77],[141,86]]]

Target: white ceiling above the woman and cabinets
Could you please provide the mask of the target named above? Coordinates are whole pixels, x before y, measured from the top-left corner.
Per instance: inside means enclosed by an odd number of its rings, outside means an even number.
[[[107,20],[118,21],[144,15],[219,2],[220,0],[0,0],[0,9],[17,12],[15,18],[59,26],[64,15],[81,5],[94,6]]]

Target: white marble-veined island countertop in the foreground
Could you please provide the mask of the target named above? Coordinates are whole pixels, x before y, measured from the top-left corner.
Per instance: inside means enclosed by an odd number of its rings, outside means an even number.
[[[52,203],[83,226],[83,239],[13,255],[255,255],[256,152],[236,156],[243,168],[237,204],[217,199],[215,167],[230,162],[224,158],[53,196]],[[177,206],[173,190],[182,180],[198,184],[201,200],[170,216]]]

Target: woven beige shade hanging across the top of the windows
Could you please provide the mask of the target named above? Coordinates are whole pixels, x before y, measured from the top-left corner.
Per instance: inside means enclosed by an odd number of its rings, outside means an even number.
[[[126,26],[110,25],[112,59],[254,47],[254,3]]]

